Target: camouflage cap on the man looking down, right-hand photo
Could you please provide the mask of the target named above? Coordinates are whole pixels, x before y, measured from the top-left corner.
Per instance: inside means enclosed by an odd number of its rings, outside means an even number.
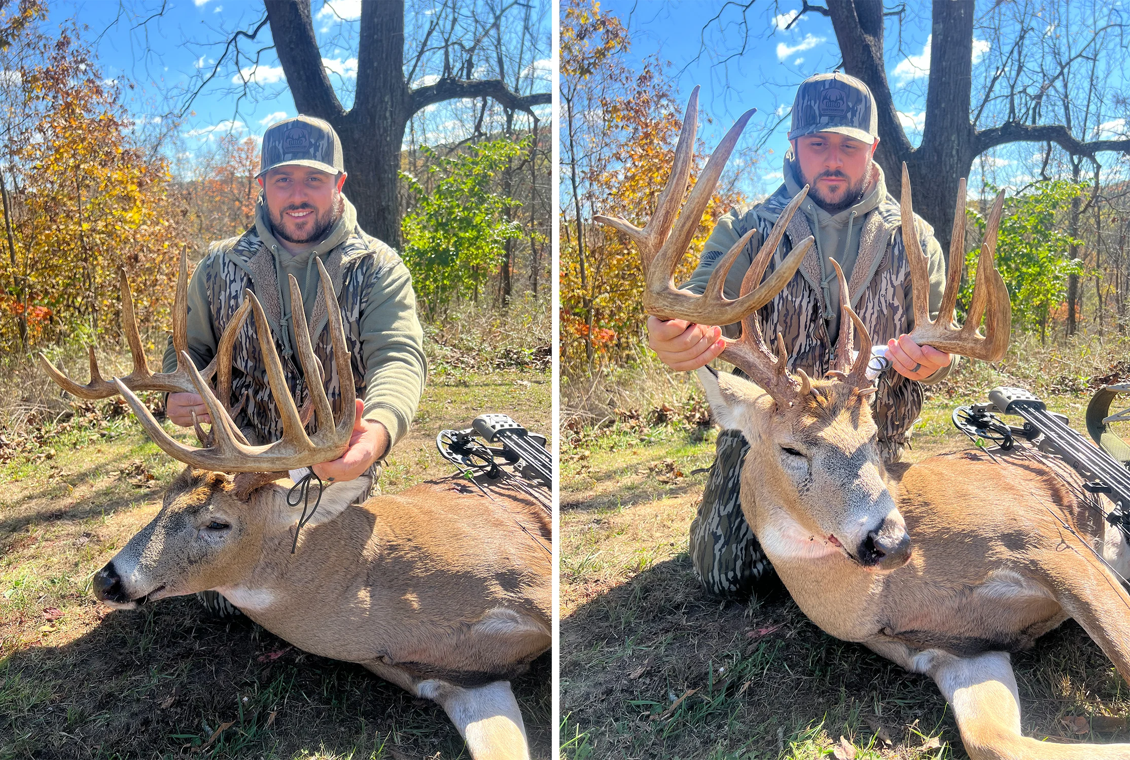
[[[838,71],[800,82],[792,102],[789,139],[814,132],[838,132],[873,143],[879,137],[879,114],[867,85]]]

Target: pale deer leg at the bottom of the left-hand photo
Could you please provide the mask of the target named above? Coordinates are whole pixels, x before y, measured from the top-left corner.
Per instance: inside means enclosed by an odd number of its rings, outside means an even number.
[[[529,760],[525,726],[510,681],[472,689],[424,681],[418,692],[443,707],[475,760]]]

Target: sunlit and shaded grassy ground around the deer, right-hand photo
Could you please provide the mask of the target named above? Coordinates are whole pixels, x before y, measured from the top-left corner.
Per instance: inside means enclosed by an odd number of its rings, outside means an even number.
[[[965,365],[930,390],[911,458],[967,446],[950,412],[994,385],[1027,386],[1083,429],[1088,381],[1127,356],[1088,348],[1072,360],[1022,341],[1001,366]],[[929,679],[825,635],[786,593],[741,603],[702,591],[687,533],[716,431],[688,421],[695,401],[681,390],[668,396],[672,421],[649,423],[664,384],[643,377],[615,396],[635,409],[602,413],[589,392],[563,403],[575,413],[562,434],[562,757],[809,760],[845,741],[857,758],[965,758]],[[1130,740],[1124,723],[1101,734],[1063,723],[1130,716],[1130,688],[1074,622],[1014,665],[1027,735]]]

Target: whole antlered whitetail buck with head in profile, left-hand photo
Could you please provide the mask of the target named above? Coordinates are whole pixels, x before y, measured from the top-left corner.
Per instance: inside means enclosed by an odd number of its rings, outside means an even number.
[[[322,268],[327,304],[336,304]],[[458,479],[426,482],[394,496],[350,506],[358,481],[325,489],[292,553],[299,507],[290,506],[287,471],[334,460],[349,444],[355,402],[341,315],[328,330],[341,383],[337,421],[321,382],[299,411],[287,390],[275,341],[254,295],[225,331],[202,375],[186,352],[186,272],[173,309],[175,373],[147,366],[125,274],[122,325],[133,353],[128,377],[104,381],[90,349],[90,383],[78,385],[44,359],[71,393],[99,399],[121,393],[156,444],[189,466],[169,486],[157,516],[94,578],[110,606],[215,589],[249,618],[290,644],[323,657],[364,665],[409,692],[437,701],[476,760],[529,757],[522,716],[508,679],[550,646],[550,521],[530,496],[499,481],[486,498]],[[302,304],[292,277],[292,303]],[[254,312],[284,437],[251,445],[231,409],[232,349],[247,308]],[[302,309],[294,313],[297,352],[306,378],[320,368]],[[212,392],[206,376],[217,376]],[[212,419],[205,448],[174,440],[134,391],[192,392]],[[316,430],[304,429],[310,412]],[[238,473],[234,477],[227,473]],[[281,481],[281,482],[275,482]]]

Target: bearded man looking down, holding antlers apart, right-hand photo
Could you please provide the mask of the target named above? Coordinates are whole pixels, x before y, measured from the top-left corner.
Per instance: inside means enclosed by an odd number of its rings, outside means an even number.
[[[809,235],[815,245],[785,289],[758,312],[758,318],[765,335],[782,333],[790,370],[824,376],[835,352],[850,349],[835,344],[840,282],[828,257],[836,260],[847,280],[852,307],[871,339],[886,343],[893,372],[879,382],[875,418],[884,458],[896,462],[922,409],[922,385],[945,377],[951,357],[918,346],[906,334],[914,327],[914,312],[904,230],[898,202],[887,194],[883,169],[873,161],[879,137],[871,91],[859,79],[838,72],[806,79],[793,102],[789,141],[783,184],[762,203],[722,217],[684,288],[702,294],[722,255],[756,228],[727,276],[725,295],[736,298],[760,242],[789,201],[809,185],[808,198],[793,216],[768,271]],[[929,259],[930,315],[935,318],[945,288],[945,263],[933,229],[920,218],[915,222]],[[647,320],[649,344],[672,369],[697,369],[712,361],[722,352],[722,332],[716,325]],[[719,435],[716,460],[690,527],[695,571],[706,589],[720,596],[765,593],[776,585],[772,567],[741,514],[738,491],[747,451],[740,433]]]

